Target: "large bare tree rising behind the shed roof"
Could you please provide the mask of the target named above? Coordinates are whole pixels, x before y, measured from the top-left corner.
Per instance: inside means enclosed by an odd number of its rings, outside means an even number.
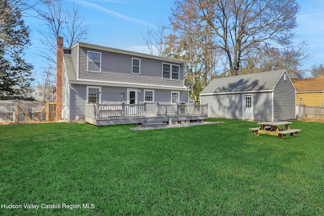
[[[198,7],[232,75],[240,73],[250,52],[292,44],[299,12],[296,0],[198,0]]]

